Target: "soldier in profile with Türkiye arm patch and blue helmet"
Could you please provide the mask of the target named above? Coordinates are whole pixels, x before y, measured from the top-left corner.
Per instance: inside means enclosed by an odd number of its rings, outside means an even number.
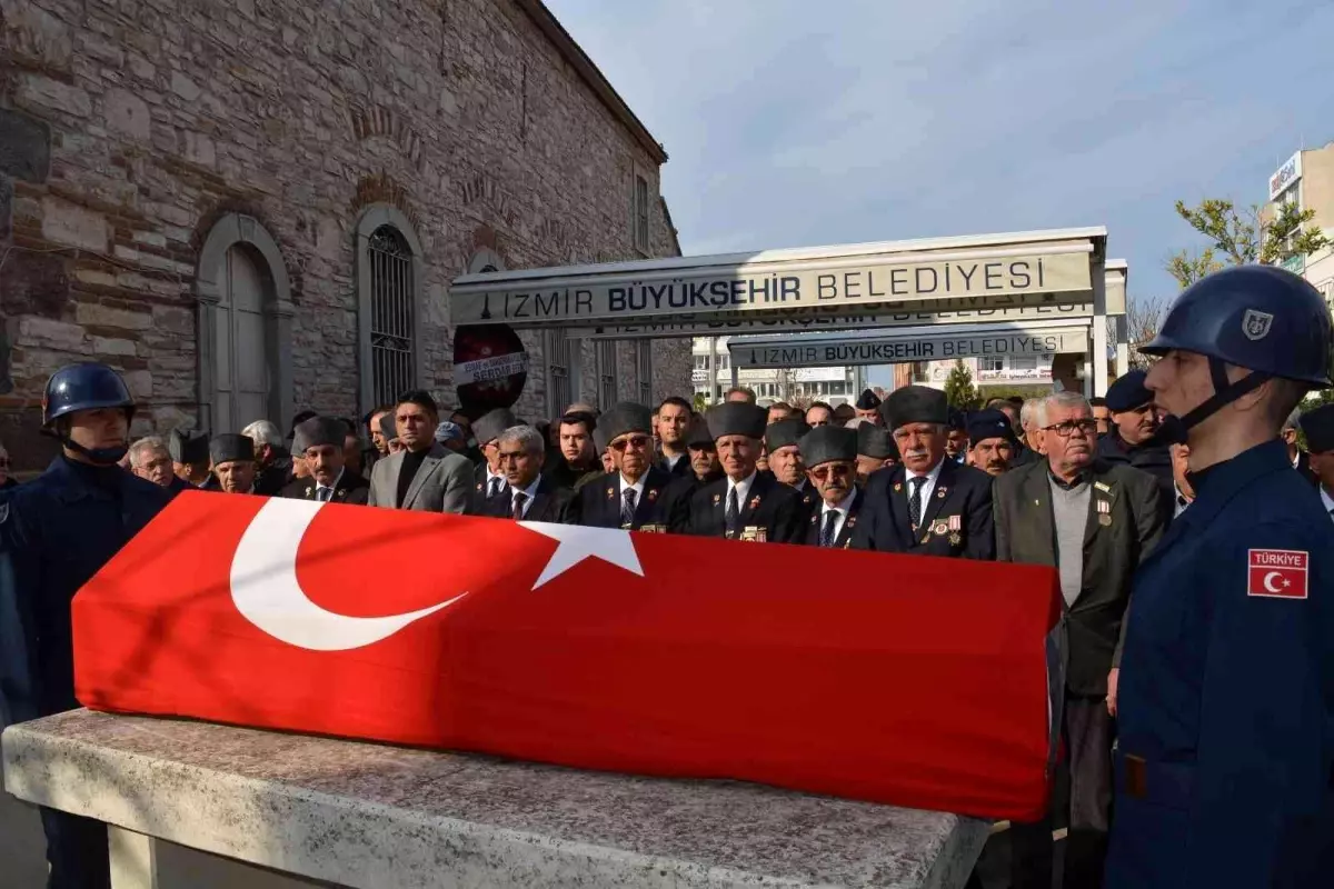
[[[1330,345],[1315,288],[1246,265],[1143,349],[1197,496],[1133,588],[1109,889],[1334,885],[1334,525],[1278,437]]]

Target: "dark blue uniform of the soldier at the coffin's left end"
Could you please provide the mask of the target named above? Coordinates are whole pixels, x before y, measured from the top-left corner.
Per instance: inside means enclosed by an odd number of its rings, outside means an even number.
[[[56,457],[0,502],[0,714],[5,722],[79,706],[69,605],[79,588],[167,504],[165,488],[120,466]],[[43,809],[48,885],[109,885],[97,821]]]

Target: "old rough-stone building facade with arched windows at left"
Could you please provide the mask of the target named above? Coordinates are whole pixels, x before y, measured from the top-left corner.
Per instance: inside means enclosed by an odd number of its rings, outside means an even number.
[[[450,281],[679,255],[666,153],[540,0],[32,0],[0,16],[0,440],[49,373],[135,432],[454,391]],[[523,332],[515,411],[690,391],[683,341]]]

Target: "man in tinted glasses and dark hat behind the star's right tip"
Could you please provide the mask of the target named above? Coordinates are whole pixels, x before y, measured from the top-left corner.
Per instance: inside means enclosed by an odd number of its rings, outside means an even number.
[[[672,521],[663,509],[663,493],[674,478],[652,464],[652,411],[628,401],[612,405],[598,417],[598,431],[608,440],[615,469],[580,486],[571,521],[667,533]]]

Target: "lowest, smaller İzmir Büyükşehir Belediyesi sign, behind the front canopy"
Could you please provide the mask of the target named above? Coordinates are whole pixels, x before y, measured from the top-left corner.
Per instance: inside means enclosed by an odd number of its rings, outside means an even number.
[[[847,367],[863,364],[906,364],[908,361],[950,361],[976,356],[1035,356],[1058,352],[1087,352],[1089,328],[1049,328],[998,333],[951,333],[948,336],[884,335],[878,337],[826,339],[822,343],[748,344],[728,343],[738,368]]]

